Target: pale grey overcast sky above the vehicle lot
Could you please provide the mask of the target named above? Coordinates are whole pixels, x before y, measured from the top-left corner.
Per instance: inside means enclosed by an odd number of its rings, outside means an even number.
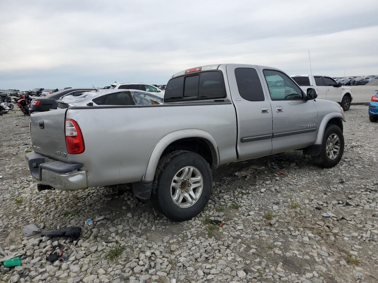
[[[0,89],[166,84],[246,63],[378,75],[378,1],[0,0]]]

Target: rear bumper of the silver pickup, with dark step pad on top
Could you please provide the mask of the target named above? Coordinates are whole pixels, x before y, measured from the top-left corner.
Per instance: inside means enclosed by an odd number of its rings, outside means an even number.
[[[29,152],[25,158],[31,175],[42,185],[62,191],[88,188],[87,172],[79,170],[83,167],[80,163],[66,163],[37,152]]]

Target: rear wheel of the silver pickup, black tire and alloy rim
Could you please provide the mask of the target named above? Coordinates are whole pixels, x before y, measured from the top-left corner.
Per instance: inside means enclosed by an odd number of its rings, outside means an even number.
[[[201,155],[174,151],[159,162],[151,202],[156,211],[173,221],[185,221],[200,213],[209,201],[212,175]]]

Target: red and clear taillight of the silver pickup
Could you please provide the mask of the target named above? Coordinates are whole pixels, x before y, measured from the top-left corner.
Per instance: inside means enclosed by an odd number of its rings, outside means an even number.
[[[65,120],[64,127],[68,154],[81,154],[85,150],[84,138],[79,125],[72,119]]]

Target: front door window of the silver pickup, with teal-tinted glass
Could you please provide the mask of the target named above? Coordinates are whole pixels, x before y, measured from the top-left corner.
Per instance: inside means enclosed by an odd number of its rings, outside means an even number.
[[[274,70],[263,71],[272,100],[302,100],[302,90],[285,74]]]

